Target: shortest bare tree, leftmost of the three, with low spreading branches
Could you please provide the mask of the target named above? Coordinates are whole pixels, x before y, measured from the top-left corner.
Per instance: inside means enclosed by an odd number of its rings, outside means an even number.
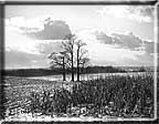
[[[52,52],[49,55],[49,59],[51,60],[51,64],[54,66],[60,66],[63,69],[63,81],[65,81],[65,68],[67,64],[67,54],[66,51],[60,52],[60,53],[55,53]]]

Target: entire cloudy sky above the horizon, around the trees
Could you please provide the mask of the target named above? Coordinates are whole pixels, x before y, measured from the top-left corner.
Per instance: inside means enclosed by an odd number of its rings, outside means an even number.
[[[94,65],[153,65],[151,6],[6,6],[6,68],[47,68],[75,33]]]

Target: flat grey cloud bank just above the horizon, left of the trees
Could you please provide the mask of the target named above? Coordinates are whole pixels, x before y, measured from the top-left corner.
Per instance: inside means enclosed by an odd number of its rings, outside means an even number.
[[[46,66],[45,56],[40,54],[31,54],[18,50],[6,50],[6,66],[7,68],[33,68]]]

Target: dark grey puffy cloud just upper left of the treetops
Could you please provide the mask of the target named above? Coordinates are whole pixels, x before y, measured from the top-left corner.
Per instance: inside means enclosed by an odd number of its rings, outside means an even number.
[[[71,29],[65,21],[51,20],[47,18],[44,20],[43,30],[38,30],[36,28],[21,28],[25,33],[34,39],[39,40],[60,40],[64,39],[66,34],[71,33]]]

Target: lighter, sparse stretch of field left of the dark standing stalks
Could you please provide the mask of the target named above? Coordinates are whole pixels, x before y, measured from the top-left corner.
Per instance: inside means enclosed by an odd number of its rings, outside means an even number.
[[[61,84],[45,80],[7,76],[4,80],[4,95],[7,99],[4,105],[11,110],[12,107],[28,105],[32,92],[51,91],[62,86]]]

